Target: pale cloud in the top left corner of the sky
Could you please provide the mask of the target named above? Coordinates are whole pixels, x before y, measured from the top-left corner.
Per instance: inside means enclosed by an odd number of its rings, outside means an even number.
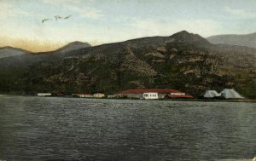
[[[21,10],[21,9],[16,9],[15,6],[12,3],[7,3],[4,1],[0,1],[0,18],[1,19],[6,19],[9,17],[15,17],[15,16],[28,16],[29,13]]]

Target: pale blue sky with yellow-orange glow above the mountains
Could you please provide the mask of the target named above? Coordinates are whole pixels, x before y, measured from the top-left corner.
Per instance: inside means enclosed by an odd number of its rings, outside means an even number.
[[[35,52],[183,30],[202,37],[256,32],[255,0],[0,0],[0,6],[0,47]]]

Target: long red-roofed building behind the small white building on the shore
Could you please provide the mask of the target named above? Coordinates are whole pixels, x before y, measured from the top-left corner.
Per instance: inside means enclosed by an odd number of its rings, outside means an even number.
[[[164,99],[170,94],[174,95],[183,95],[183,92],[180,92],[176,89],[127,89],[121,91],[119,94],[124,95],[127,98],[143,98],[144,93],[157,93],[159,99]],[[184,94],[185,95],[185,94]]]

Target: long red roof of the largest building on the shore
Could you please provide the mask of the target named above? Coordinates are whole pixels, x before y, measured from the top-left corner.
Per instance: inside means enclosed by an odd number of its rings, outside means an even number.
[[[123,90],[121,94],[142,94],[147,92],[156,92],[156,93],[182,93],[176,89],[127,89]]]

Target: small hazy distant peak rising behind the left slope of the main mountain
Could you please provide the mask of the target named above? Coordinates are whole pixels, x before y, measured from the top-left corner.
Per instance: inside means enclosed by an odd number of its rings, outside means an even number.
[[[63,46],[61,49],[57,49],[56,51],[60,53],[67,53],[72,50],[83,49],[88,47],[91,47],[89,43],[76,41],[73,43],[68,43],[67,45]]]

